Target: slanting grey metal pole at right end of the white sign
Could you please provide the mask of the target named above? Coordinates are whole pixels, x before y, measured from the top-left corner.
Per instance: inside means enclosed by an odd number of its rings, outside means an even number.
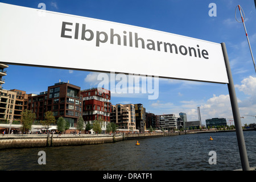
[[[222,47],[222,52],[224,55],[224,60],[225,60],[225,65],[226,65],[226,71],[227,71],[228,79],[229,79],[229,83],[228,83],[229,97],[230,97],[230,102],[231,102],[231,106],[232,106],[234,124],[236,126],[237,142],[238,142],[238,148],[239,148],[239,152],[240,152],[242,169],[244,171],[250,171],[248,156],[247,156],[246,147],[245,147],[245,139],[243,138],[243,130],[242,130],[240,112],[239,112],[238,104],[237,104],[237,96],[236,96],[236,91],[234,88],[234,82],[233,82],[230,65],[229,65],[228,52],[226,51],[225,43],[221,43],[221,47]]]

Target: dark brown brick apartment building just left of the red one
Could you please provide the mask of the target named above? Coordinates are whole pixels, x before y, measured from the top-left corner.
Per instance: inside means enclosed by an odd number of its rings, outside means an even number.
[[[52,111],[56,120],[63,117],[70,123],[70,127],[76,127],[77,119],[82,115],[82,96],[80,87],[67,82],[58,82],[48,86],[47,92],[39,95],[29,94],[24,109],[36,113],[36,121],[44,119],[46,111]]]

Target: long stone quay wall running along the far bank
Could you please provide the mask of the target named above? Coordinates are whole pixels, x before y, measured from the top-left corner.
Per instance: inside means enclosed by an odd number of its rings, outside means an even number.
[[[6,134],[0,137],[0,150],[4,148],[77,146],[85,144],[113,143],[122,140],[169,137],[184,134],[229,132],[236,130],[176,131],[170,133],[137,133],[137,134]],[[250,130],[243,130],[250,131]]]

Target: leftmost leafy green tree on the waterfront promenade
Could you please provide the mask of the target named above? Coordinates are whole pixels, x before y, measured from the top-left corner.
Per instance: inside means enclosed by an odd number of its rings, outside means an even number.
[[[22,122],[22,127],[21,127],[21,131],[22,133],[24,132],[28,132],[29,130],[31,130],[31,126],[32,123],[35,121],[35,113],[32,113],[31,110],[24,110],[21,113],[21,122]]]

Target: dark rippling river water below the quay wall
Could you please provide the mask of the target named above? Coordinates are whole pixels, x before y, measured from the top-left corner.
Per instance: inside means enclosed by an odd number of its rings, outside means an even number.
[[[244,131],[250,167],[256,166],[256,131]],[[213,140],[209,140],[210,136]],[[240,169],[235,132],[187,134],[85,146],[6,149],[0,170],[32,171],[230,171]],[[39,151],[46,164],[39,165]],[[210,151],[216,164],[209,164]]]

